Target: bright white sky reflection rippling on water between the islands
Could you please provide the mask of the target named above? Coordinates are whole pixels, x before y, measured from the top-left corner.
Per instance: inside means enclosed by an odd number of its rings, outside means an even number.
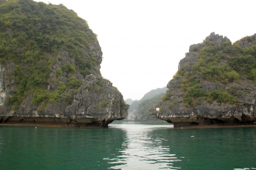
[[[175,154],[170,153],[170,146],[164,146],[162,141],[167,141],[160,134],[154,134],[154,129],[173,128],[169,125],[147,125],[147,124],[111,124],[110,128],[118,128],[126,131],[126,137],[119,153],[112,155],[109,164],[111,169],[180,169],[173,166],[176,161],[181,161]]]

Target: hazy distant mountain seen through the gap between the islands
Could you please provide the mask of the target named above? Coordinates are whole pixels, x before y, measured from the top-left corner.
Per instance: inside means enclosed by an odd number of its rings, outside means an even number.
[[[140,100],[134,100],[130,108],[128,109],[128,116],[125,120],[159,121],[159,119],[153,118],[153,116],[148,115],[148,109],[160,101],[160,99],[164,96],[166,90],[167,87],[157,88],[151,90],[150,92],[147,92]]]

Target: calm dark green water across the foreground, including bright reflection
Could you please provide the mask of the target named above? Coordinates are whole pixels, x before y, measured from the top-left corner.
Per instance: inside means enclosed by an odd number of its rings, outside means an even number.
[[[0,169],[256,169],[254,127],[174,129],[165,122],[109,126],[0,126]]]

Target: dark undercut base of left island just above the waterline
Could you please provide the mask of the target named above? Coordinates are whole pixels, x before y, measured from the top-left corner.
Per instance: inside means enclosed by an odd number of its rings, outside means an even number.
[[[38,118],[38,117],[0,117],[1,125],[13,126],[44,126],[68,128],[108,128],[113,121],[97,119]]]

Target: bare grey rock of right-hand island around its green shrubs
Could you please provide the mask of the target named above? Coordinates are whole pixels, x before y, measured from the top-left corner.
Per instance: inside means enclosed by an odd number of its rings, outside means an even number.
[[[239,41],[238,43],[244,48],[249,44],[251,47],[256,41],[255,35],[251,43],[248,41]],[[211,33],[210,36],[206,37],[207,40],[211,40],[213,45],[220,46],[223,42],[229,41],[227,37],[219,36],[218,34]],[[197,55],[200,53],[200,48],[203,48],[203,44],[194,44],[189,48],[189,53],[186,57],[180,60],[179,69],[183,67],[184,73],[194,69],[193,64],[197,63]],[[184,69],[185,64],[186,69]],[[221,63],[224,65],[227,61]],[[167,84],[168,93],[166,100],[161,100],[158,104],[148,109],[148,114],[153,117],[165,120],[173,123],[174,127],[184,127],[191,125],[210,125],[210,124],[256,124],[256,85],[252,80],[248,80],[243,77],[239,81],[234,81],[228,84],[223,84],[217,81],[209,82],[200,75],[194,75],[195,81],[200,85],[202,91],[216,92],[216,90],[222,90],[221,92],[229,92],[232,96],[237,98],[236,104],[221,103],[218,100],[205,100],[198,98],[195,100],[193,106],[188,105],[184,102],[184,96],[188,95],[182,85],[184,85],[185,76],[176,77]],[[193,91],[195,93],[195,91]],[[219,97],[220,98],[220,97]],[[156,111],[156,108],[160,108],[160,111]]]

